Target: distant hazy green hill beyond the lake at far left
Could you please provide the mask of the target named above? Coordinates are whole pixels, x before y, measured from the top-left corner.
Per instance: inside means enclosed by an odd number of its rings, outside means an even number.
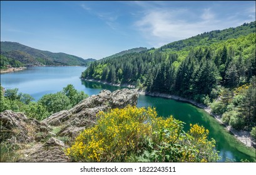
[[[65,53],[51,53],[18,42],[1,41],[1,55],[33,66],[86,66],[95,59],[83,59]]]

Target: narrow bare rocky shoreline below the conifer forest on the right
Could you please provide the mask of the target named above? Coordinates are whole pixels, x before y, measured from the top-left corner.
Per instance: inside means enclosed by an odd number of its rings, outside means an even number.
[[[101,80],[95,80],[95,79],[82,79],[84,81],[91,81],[91,82],[98,82],[98,83],[103,83],[103,84],[108,84],[111,86],[118,86],[118,87],[124,87],[124,88],[133,88],[136,89],[134,85],[129,85],[126,86],[126,84],[112,84],[112,83],[108,83],[105,81],[101,81]],[[174,96],[174,95],[170,95],[170,94],[163,94],[163,93],[147,93],[145,91],[141,91],[139,89],[137,89],[139,94],[143,94],[143,95],[148,95],[148,96],[154,96],[154,97],[160,97],[160,98],[167,98],[167,99],[174,99],[177,101],[182,101],[184,103],[189,103],[192,104],[193,106],[196,106],[197,108],[203,109],[204,111],[206,111],[208,114],[210,114],[210,116],[212,116],[213,118],[215,118],[219,124],[225,126],[225,129],[232,134],[233,136],[235,136],[235,138],[238,139],[238,141],[240,141],[241,143],[245,144],[245,146],[249,147],[249,148],[255,148],[255,143],[253,143],[252,139],[250,138],[250,132],[249,131],[237,131],[233,128],[231,128],[231,126],[224,124],[221,121],[221,116],[217,115],[217,114],[213,114],[212,113],[212,109],[209,106],[206,106],[205,104],[201,104],[201,103],[197,103],[196,101],[193,101],[191,99],[186,99],[186,98],[182,98],[180,96]]]

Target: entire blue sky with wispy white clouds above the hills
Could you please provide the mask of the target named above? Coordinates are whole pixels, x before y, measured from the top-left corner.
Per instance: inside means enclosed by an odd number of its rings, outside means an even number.
[[[1,1],[1,41],[101,59],[255,21],[255,1]]]

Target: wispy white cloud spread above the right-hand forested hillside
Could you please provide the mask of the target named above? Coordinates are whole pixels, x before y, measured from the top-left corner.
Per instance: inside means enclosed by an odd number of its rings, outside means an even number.
[[[237,18],[225,19],[217,16],[211,8],[205,8],[200,12],[200,10],[184,8],[149,8],[141,2],[140,6],[147,9],[143,9],[143,15],[135,22],[135,27],[153,47],[160,47],[207,31],[236,27],[247,22]],[[255,16],[249,16],[248,22],[253,17]]]

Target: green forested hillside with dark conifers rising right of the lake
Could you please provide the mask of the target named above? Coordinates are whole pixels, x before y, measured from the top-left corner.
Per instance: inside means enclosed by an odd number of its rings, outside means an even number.
[[[193,99],[212,106],[233,128],[250,131],[256,121],[255,75],[254,21],[96,62],[81,78]]]

